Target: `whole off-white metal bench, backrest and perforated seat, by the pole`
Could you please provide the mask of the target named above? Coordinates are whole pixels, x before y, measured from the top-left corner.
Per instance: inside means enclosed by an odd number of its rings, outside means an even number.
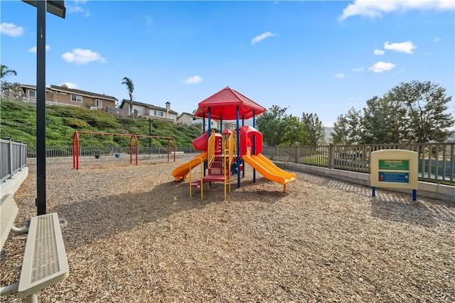
[[[1,287],[0,294],[17,292],[18,297],[26,302],[38,302],[36,292],[45,287],[65,280],[70,275],[65,253],[60,221],[57,213],[33,216],[28,227],[17,228],[14,220],[18,206],[12,194],[1,198],[1,242],[3,248],[9,232],[27,232],[26,249],[23,255],[21,277],[19,281]]]

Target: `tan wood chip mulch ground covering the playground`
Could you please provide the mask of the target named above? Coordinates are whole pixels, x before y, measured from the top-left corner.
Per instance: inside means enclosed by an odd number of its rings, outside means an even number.
[[[296,172],[283,193],[252,169],[189,197],[183,163],[48,164],[47,208],[70,277],[40,302],[455,302],[455,204]],[[36,167],[15,194],[36,214]],[[198,175],[199,167],[194,174]],[[418,192],[417,192],[418,193]],[[26,236],[1,252],[15,282]],[[21,302],[16,294],[2,302]]]

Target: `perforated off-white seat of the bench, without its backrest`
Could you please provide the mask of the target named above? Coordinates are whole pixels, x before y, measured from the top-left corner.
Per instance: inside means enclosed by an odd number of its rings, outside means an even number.
[[[18,296],[27,297],[65,280],[69,270],[58,214],[34,216],[28,230]]]

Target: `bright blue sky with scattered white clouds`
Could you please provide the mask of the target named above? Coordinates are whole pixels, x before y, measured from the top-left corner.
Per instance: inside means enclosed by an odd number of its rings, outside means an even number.
[[[65,1],[47,14],[46,85],[192,112],[229,86],[332,126],[401,82],[454,97],[455,1]],[[1,1],[1,64],[36,84],[36,8]],[[35,47],[35,50],[33,49]],[[455,100],[449,104],[455,113]]]

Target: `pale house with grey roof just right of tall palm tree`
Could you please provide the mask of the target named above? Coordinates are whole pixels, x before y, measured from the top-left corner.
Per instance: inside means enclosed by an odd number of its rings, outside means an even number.
[[[166,102],[166,108],[154,106],[151,104],[141,103],[138,101],[133,101],[133,115],[129,113],[129,100],[123,99],[122,103],[119,106],[119,109],[122,109],[124,116],[134,116],[141,117],[145,119],[159,119],[171,121],[173,123],[177,122],[176,111],[171,109],[171,103]]]

